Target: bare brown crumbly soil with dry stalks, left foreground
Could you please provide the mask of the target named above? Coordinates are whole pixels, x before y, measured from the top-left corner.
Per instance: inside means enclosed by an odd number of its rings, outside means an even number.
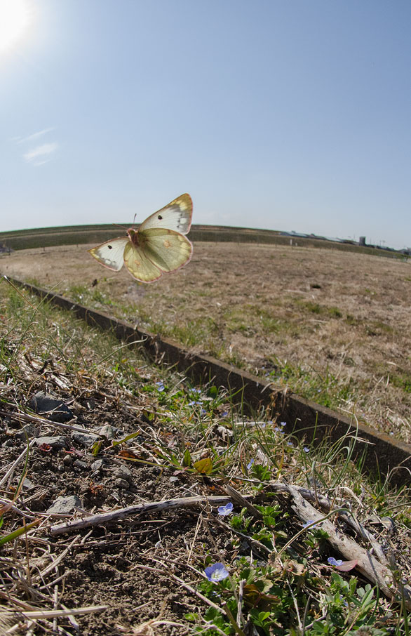
[[[180,576],[187,583],[198,580],[192,564],[203,560],[201,546],[207,545],[208,552],[214,552],[215,560],[226,555],[228,547],[232,549],[229,533],[224,535],[213,523],[210,526],[199,523],[198,508],[135,515],[126,522],[120,519],[109,526],[93,526],[72,534],[50,536],[48,532],[50,525],[62,524],[73,517],[74,508],[67,503],[62,510],[50,510],[60,498],[77,498],[77,517],[79,512],[87,516],[90,512],[169,498],[196,494],[204,498],[209,490],[201,476],[190,477],[182,471],[174,476],[173,469],[156,465],[152,454],[158,453],[159,440],[173,449],[177,444],[176,435],[181,432],[177,433],[169,421],[162,424],[161,406],[155,396],[145,394],[144,390],[139,397],[133,397],[127,391],[121,392],[117,383],[111,386],[109,376],[103,379],[102,385],[96,378],[86,377],[79,385],[78,376],[70,376],[58,365],[54,364],[53,369],[46,369],[40,375],[40,359],[39,364],[34,357],[30,358],[29,365],[24,358],[20,362],[20,372],[27,386],[23,390],[20,383],[15,392],[9,385],[1,405],[2,409],[11,409],[11,413],[10,416],[0,413],[0,477],[15,464],[20,453],[24,456],[26,448],[21,430],[25,420],[21,422],[18,415],[13,416],[13,407],[5,406],[7,398],[27,404],[30,395],[38,391],[51,393],[69,405],[74,420],[62,430],[55,424],[48,426],[45,420],[42,423],[32,420],[26,425],[31,451],[27,478],[17,502],[20,512],[4,515],[6,522],[1,536],[21,526],[25,514],[27,523],[36,515],[41,525],[29,538],[26,548],[24,541],[18,541],[14,553],[13,549],[4,548],[0,552],[0,635],[9,633],[10,625],[2,623],[5,601],[20,611],[53,609],[53,604],[59,611],[65,607],[105,606],[103,611],[70,616],[69,620],[60,617],[55,630],[50,629],[53,627],[50,620],[43,622],[42,627],[35,621],[32,630],[26,631],[27,623],[22,620],[19,634],[37,635],[48,631],[63,636],[187,634],[189,628],[184,614],[203,610],[203,603],[179,583],[173,585],[171,577]],[[3,385],[1,389],[3,392]],[[146,420],[146,409],[158,411],[158,418]],[[55,413],[50,413],[50,419],[60,421]],[[97,458],[93,457],[90,441],[81,437],[76,428],[83,428],[88,435],[99,435],[103,426],[109,437],[123,438],[137,431],[138,436],[133,438],[135,451],[123,451],[123,446],[110,447],[112,442],[105,439]],[[1,496],[12,496],[22,463],[15,467],[10,486],[6,488],[4,479],[1,481],[4,484]],[[207,507],[211,510],[209,505]],[[213,536],[211,545],[210,536]]]

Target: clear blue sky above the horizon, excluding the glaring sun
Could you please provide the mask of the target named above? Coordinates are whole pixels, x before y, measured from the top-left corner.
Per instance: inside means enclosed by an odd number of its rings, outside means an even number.
[[[411,245],[410,0],[22,1],[1,230],[189,192],[194,223]]]

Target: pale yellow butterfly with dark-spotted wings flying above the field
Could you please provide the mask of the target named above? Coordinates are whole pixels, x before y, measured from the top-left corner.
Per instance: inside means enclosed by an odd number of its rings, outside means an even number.
[[[127,230],[127,237],[106,241],[88,252],[109,270],[119,272],[126,265],[133,278],[151,283],[191,259],[193,246],[184,234],[189,232],[192,214],[191,197],[182,194],[146,218],[138,230]]]

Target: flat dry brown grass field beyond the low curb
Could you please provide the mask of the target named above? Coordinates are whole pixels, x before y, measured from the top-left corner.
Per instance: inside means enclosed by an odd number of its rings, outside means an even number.
[[[411,441],[411,261],[196,243],[186,267],[147,285],[88,247],[16,251],[0,270]]]

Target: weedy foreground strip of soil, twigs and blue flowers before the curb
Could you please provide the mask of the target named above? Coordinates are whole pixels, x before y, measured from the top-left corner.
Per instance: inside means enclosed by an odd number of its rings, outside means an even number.
[[[1,634],[409,633],[407,493],[355,435],[314,449],[23,294],[0,284]]]

